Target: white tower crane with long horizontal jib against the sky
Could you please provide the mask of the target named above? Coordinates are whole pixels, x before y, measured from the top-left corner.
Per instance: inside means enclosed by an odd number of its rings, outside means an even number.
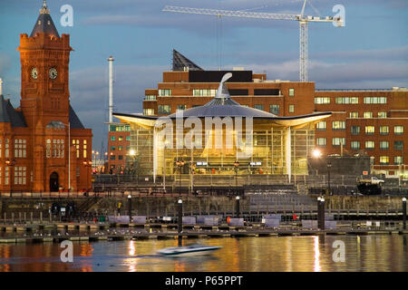
[[[206,9],[206,8],[191,8],[180,6],[166,5],[162,11],[185,13],[185,14],[207,14],[217,16],[229,16],[229,17],[244,17],[244,18],[257,18],[257,19],[271,19],[271,20],[291,20],[299,22],[299,79],[300,82],[307,82],[307,24],[309,22],[325,22],[335,23],[337,26],[343,26],[343,20],[340,17],[314,17],[305,16],[306,0],[303,4],[300,14],[273,14],[273,13],[257,13],[248,11],[230,11],[219,9]]]

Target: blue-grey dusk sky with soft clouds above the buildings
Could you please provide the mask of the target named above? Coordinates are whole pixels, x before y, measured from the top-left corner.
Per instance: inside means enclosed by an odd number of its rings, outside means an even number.
[[[345,27],[309,24],[308,79],[316,88],[387,88],[408,85],[407,0],[311,0],[306,14],[335,15]],[[73,6],[63,27],[62,5]],[[206,70],[235,66],[267,79],[298,81],[299,24],[162,12],[165,5],[299,14],[303,0],[48,0],[59,34],[71,35],[71,103],[92,128],[94,150],[106,150],[108,62],[114,65],[114,111],[141,112],[144,90],[170,71],[174,48]],[[20,103],[19,34],[30,34],[42,0],[0,0],[0,78],[15,108]],[[221,33],[219,33],[219,31]],[[218,37],[218,35],[220,35]],[[218,45],[218,43],[220,43]],[[221,47],[219,62],[219,47]],[[104,138],[103,138],[104,137]]]

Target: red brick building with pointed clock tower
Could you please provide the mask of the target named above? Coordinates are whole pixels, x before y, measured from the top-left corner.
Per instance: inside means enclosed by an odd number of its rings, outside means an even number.
[[[83,162],[92,158],[92,131],[69,100],[72,50],[44,3],[31,35],[20,35],[20,107],[0,99],[0,190],[91,187],[91,168]]]

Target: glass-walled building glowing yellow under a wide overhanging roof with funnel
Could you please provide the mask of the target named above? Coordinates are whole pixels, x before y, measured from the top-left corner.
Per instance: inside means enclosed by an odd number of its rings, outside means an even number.
[[[233,175],[238,160],[239,172],[307,174],[307,157],[315,149],[314,125],[331,113],[277,117],[241,106],[231,100],[225,85],[232,75],[223,77],[216,96],[204,106],[165,119],[114,113],[131,126],[131,150],[141,156],[140,174],[178,174],[177,160],[186,162],[182,173],[195,169],[198,174]],[[192,133],[193,124],[197,131]]]

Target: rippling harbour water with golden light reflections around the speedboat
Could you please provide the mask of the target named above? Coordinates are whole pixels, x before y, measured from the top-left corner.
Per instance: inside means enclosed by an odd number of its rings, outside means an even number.
[[[407,236],[241,237],[183,240],[222,248],[212,256],[155,256],[177,240],[73,242],[73,263],[58,244],[0,245],[0,271],[303,272],[408,269]],[[345,242],[345,262],[333,261],[333,243]]]

